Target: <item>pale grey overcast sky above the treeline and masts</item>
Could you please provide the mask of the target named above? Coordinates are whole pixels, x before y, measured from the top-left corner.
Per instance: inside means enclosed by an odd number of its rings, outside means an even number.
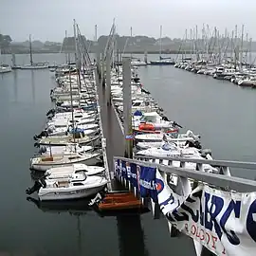
[[[184,36],[195,25],[218,27],[224,32],[246,26],[256,39],[256,0],[0,0],[0,33],[14,41],[32,39],[62,41],[64,30],[72,34],[75,18],[82,34],[93,39],[108,34],[115,18],[120,35],[133,34],[171,38]],[[199,29],[199,28],[198,28]],[[201,28],[200,28],[201,29]]]

